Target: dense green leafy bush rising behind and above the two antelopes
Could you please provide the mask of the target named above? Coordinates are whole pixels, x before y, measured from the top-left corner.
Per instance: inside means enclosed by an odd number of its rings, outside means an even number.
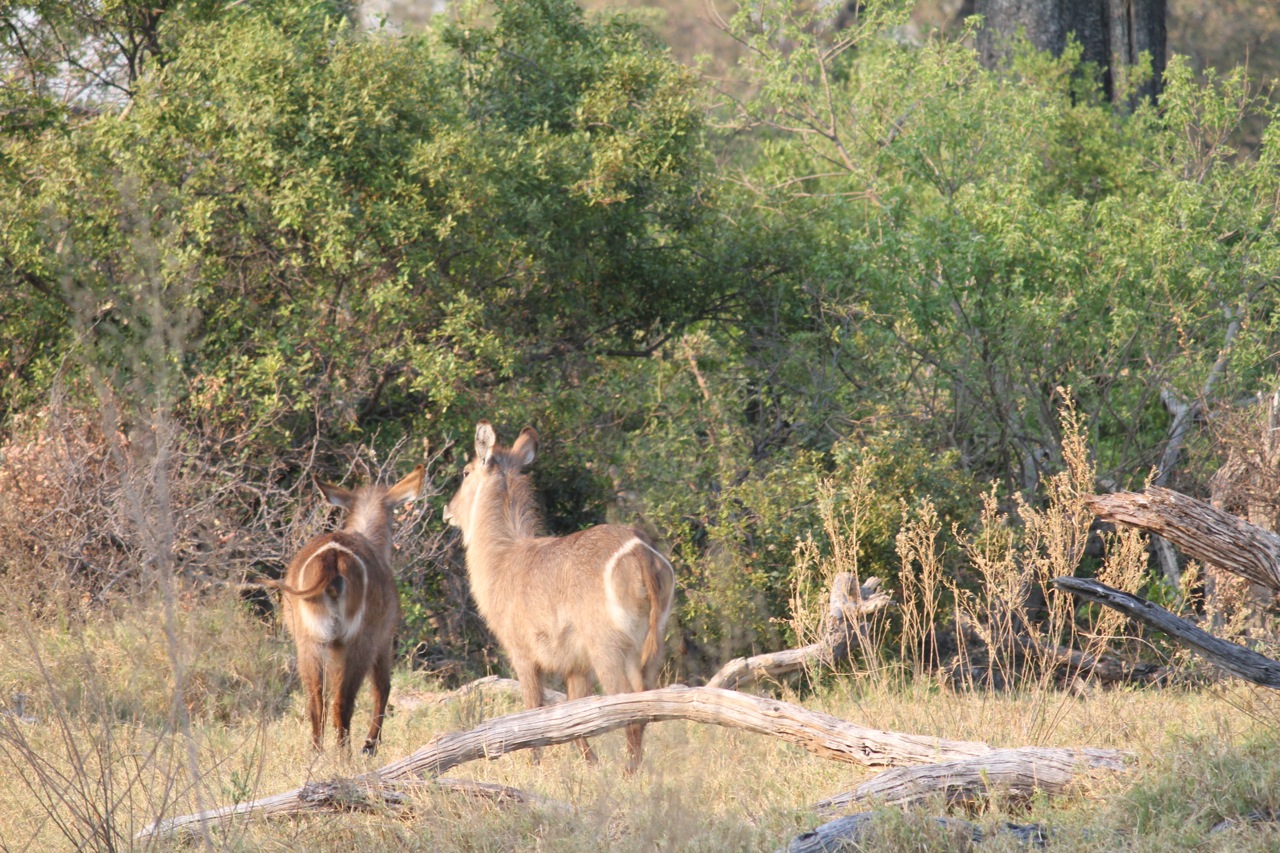
[[[6,205],[24,229],[4,256],[29,282],[13,298],[46,314],[109,301],[129,192],[146,197],[200,316],[184,402],[212,428],[248,412],[266,448],[316,419],[342,438],[699,310],[680,245],[699,216],[694,81],[634,27],[512,4],[492,29],[397,38],[276,4],[173,38],[128,111],[6,151],[40,179]]]

